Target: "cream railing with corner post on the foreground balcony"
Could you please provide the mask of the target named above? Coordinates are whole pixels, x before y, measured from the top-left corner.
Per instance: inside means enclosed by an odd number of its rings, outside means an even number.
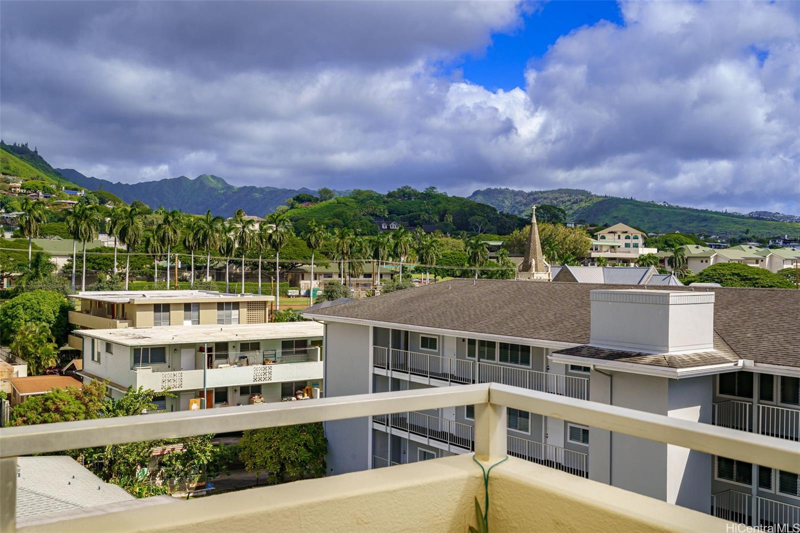
[[[752,433],[747,434],[725,427],[714,427],[710,424],[673,419],[664,415],[654,415],[634,409],[572,399],[539,391],[530,391],[519,387],[509,387],[497,383],[478,383],[458,387],[434,387],[423,390],[341,396],[308,400],[305,402],[265,403],[262,405],[230,407],[225,410],[182,411],[149,415],[146,417],[119,417],[3,428],[0,430],[0,531],[16,531],[18,455],[43,454],[86,447],[133,443],[142,440],[171,439],[190,435],[226,433],[230,431],[257,429],[260,427],[281,427],[326,420],[362,418],[406,410],[425,411],[462,405],[474,405],[475,457],[481,461],[491,461],[494,463],[508,455],[506,407],[512,407],[539,415],[569,420],[573,423],[598,427],[607,431],[633,435],[658,443],[670,443],[675,446],[686,447],[703,453],[722,455],[723,457],[755,463],[764,467],[800,473],[800,451],[798,451],[798,447],[795,443],[783,439],[774,439],[765,435],[756,435]],[[461,464],[458,462],[458,458],[437,459],[436,461],[447,463],[450,459],[454,459],[453,464]],[[436,461],[433,462],[435,463]],[[514,462],[511,461],[511,463],[513,467]],[[530,466],[536,467],[537,465]],[[403,465],[402,467],[398,467],[398,470],[408,467],[413,467],[413,465]],[[436,470],[435,465],[430,468]],[[386,469],[382,468],[377,472],[392,470],[394,469],[391,467]],[[414,468],[410,468],[409,471],[413,471],[414,475],[422,475],[424,472],[424,470],[418,471]],[[506,477],[510,476],[509,479],[514,480],[514,483],[517,485],[518,483],[526,483],[527,486],[530,486],[530,483],[535,483],[531,475],[522,475],[520,472],[530,473],[532,471],[530,467],[524,467],[521,464],[517,473],[509,472],[506,474]],[[560,473],[554,472],[554,474]],[[522,477],[519,477],[520,475],[522,475]],[[542,475],[546,476],[547,474],[545,472]],[[320,487],[329,487],[330,490],[330,483],[338,483],[336,481],[330,481],[330,479],[343,477],[345,476],[333,476],[328,479],[314,480],[310,482],[312,483],[311,485],[306,482],[299,483],[306,483],[301,487],[302,490],[306,492],[314,487],[313,483],[322,483]],[[358,479],[360,480],[361,478]],[[642,496],[597,483],[592,483],[591,487],[582,486],[575,482],[591,482],[577,478],[572,479],[574,479],[574,482],[570,482],[572,483],[571,486],[574,487],[574,491],[580,493],[582,499],[590,498],[592,491],[596,492],[601,490],[602,487],[602,491],[605,492],[606,496],[618,503],[617,507],[626,507],[628,503],[626,499],[631,502],[637,502],[633,504],[634,507],[639,505],[658,507],[660,510],[659,512],[662,513],[662,516],[659,516],[658,520],[670,521],[674,519],[683,523],[683,527],[680,525],[670,526],[670,528],[674,528],[678,531],[680,531],[681,528],[702,528],[702,526],[691,526],[692,522],[690,520],[698,520],[701,522],[706,520],[701,514],[681,510],[680,507],[664,507],[661,502],[642,499]],[[363,481],[371,485],[366,479]],[[294,491],[294,489],[290,487],[291,485],[295,484],[290,483],[286,487],[281,487],[280,491]],[[258,489],[253,490],[258,491]],[[342,491],[341,488],[338,490]],[[540,485],[537,490],[541,493],[541,491],[549,491],[550,489]],[[570,499],[569,491],[570,488],[568,486],[563,487],[563,495],[561,498],[564,499],[565,503],[570,503],[571,505],[573,499]],[[246,493],[247,491],[243,492]],[[362,488],[360,493],[363,493]],[[261,494],[262,493],[258,493],[258,495]],[[270,495],[274,494],[277,493],[270,493]],[[327,493],[328,496],[330,496],[330,494],[334,493]],[[509,492],[508,497],[512,497],[513,494],[513,491]],[[398,495],[397,490],[394,491],[394,495]],[[504,496],[498,495],[497,497],[498,504],[502,505]],[[210,496],[209,499],[202,499],[202,502],[198,502],[197,505],[190,505],[188,508],[196,510],[196,512],[202,515],[204,509],[219,511],[222,507],[225,507],[222,502],[228,502],[228,505],[233,507],[226,508],[232,513],[231,515],[235,515],[239,507],[241,507],[238,506],[237,502],[241,503],[242,498],[246,500],[247,506],[255,505],[246,495],[237,494],[234,499],[226,498],[226,495]],[[535,500],[536,498],[533,498],[530,501]],[[647,503],[651,501],[653,503]],[[188,503],[190,502],[187,502],[187,504]],[[322,504],[320,503],[320,505]],[[469,503],[464,507],[465,512],[469,509],[468,506]],[[309,505],[306,504],[306,507],[309,508],[310,512],[314,511],[314,506],[309,507]],[[252,512],[254,512],[253,507],[248,508],[250,508],[252,514]],[[587,508],[586,501],[583,501],[581,508]],[[597,510],[596,512],[598,513],[606,512],[602,510],[603,507],[599,504],[593,504],[591,508]],[[341,511],[341,508],[339,510]],[[171,531],[165,523],[157,522],[156,519],[150,516],[150,511],[148,513],[136,512],[138,518],[136,519],[135,527],[137,531],[150,531],[157,527],[161,527],[164,531]],[[174,511],[172,512],[174,513]],[[241,509],[241,512],[244,513],[246,511]],[[646,511],[639,508],[637,515],[639,518],[634,519],[633,515],[626,515],[628,516],[626,524],[630,525],[630,523],[632,523],[631,521],[641,521],[641,517],[647,515],[648,513]],[[203,522],[204,527],[215,527],[215,524],[219,524],[219,520],[227,519],[227,516],[228,515],[223,518],[222,515],[218,515],[217,519],[209,518],[206,522]],[[498,513],[496,516],[501,517],[502,512]],[[678,517],[682,518],[679,519]],[[90,517],[90,519],[113,521],[112,523],[117,524],[118,528],[120,528],[119,526],[122,524],[114,516],[110,516],[107,519],[105,517]],[[194,527],[196,527],[198,519],[203,520],[202,518],[198,518],[198,515],[181,515],[180,517],[172,516],[169,518],[169,520],[176,519],[186,520],[186,526],[182,527],[182,529],[185,530],[192,529],[192,523],[194,523]],[[278,515],[275,515],[274,519],[278,519]],[[501,520],[500,523],[502,523],[502,518],[499,519]],[[144,522],[144,520],[149,521]],[[707,520],[713,519],[708,517]],[[97,524],[99,522],[94,523]],[[126,523],[126,529],[134,528],[133,525],[128,527],[129,525],[129,523]],[[712,524],[708,522],[706,525],[713,525],[713,528],[717,531],[724,531],[724,524],[722,523]],[[58,530],[58,523],[48,524],[48,527]],[[178,526],[174,527],[178,528]],[[276,526],[276,528],[280,529],[278,526]],[[99,530],[99,528],[97,529]],[[106,529],[108,529],[108,526],[106,526]],[[461,529],[463,529],[463,526]],[[82,527],[82,529],[75,531],[95,530]],[[337,531],[346,531],[346,528],[339,528]],[[629,527],[625,531],[636,530]]]

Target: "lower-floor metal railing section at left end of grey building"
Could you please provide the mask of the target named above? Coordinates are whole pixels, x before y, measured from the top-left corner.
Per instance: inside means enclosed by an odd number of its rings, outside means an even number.
[[[405,431],[410,439],[411,435],[426,440],[426,443],[444,444],[448,448],[456,446],[465,451],[472,451],[473,427],[469,424],[443,419],[436,415],[427,415],[418,411],[392,413],[390,415],[376,415],[372,417],[374,423],[380,424],[388,431],[387,424],[395,430]]]

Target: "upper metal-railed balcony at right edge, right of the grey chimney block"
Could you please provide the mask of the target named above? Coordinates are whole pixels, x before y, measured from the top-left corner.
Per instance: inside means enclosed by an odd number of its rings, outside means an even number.
[[[778,439],[800,440],[800,410],[758,404],[753,419],[753,403],[739,400],[714,403],[713,423],[739,431],[756,431]]]

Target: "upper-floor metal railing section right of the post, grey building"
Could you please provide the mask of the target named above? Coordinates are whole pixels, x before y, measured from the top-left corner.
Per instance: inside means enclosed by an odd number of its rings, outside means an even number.
[[[490,382],[577,399],[587,399],[589,391],[588,378],[478,363],[478,383]]]

